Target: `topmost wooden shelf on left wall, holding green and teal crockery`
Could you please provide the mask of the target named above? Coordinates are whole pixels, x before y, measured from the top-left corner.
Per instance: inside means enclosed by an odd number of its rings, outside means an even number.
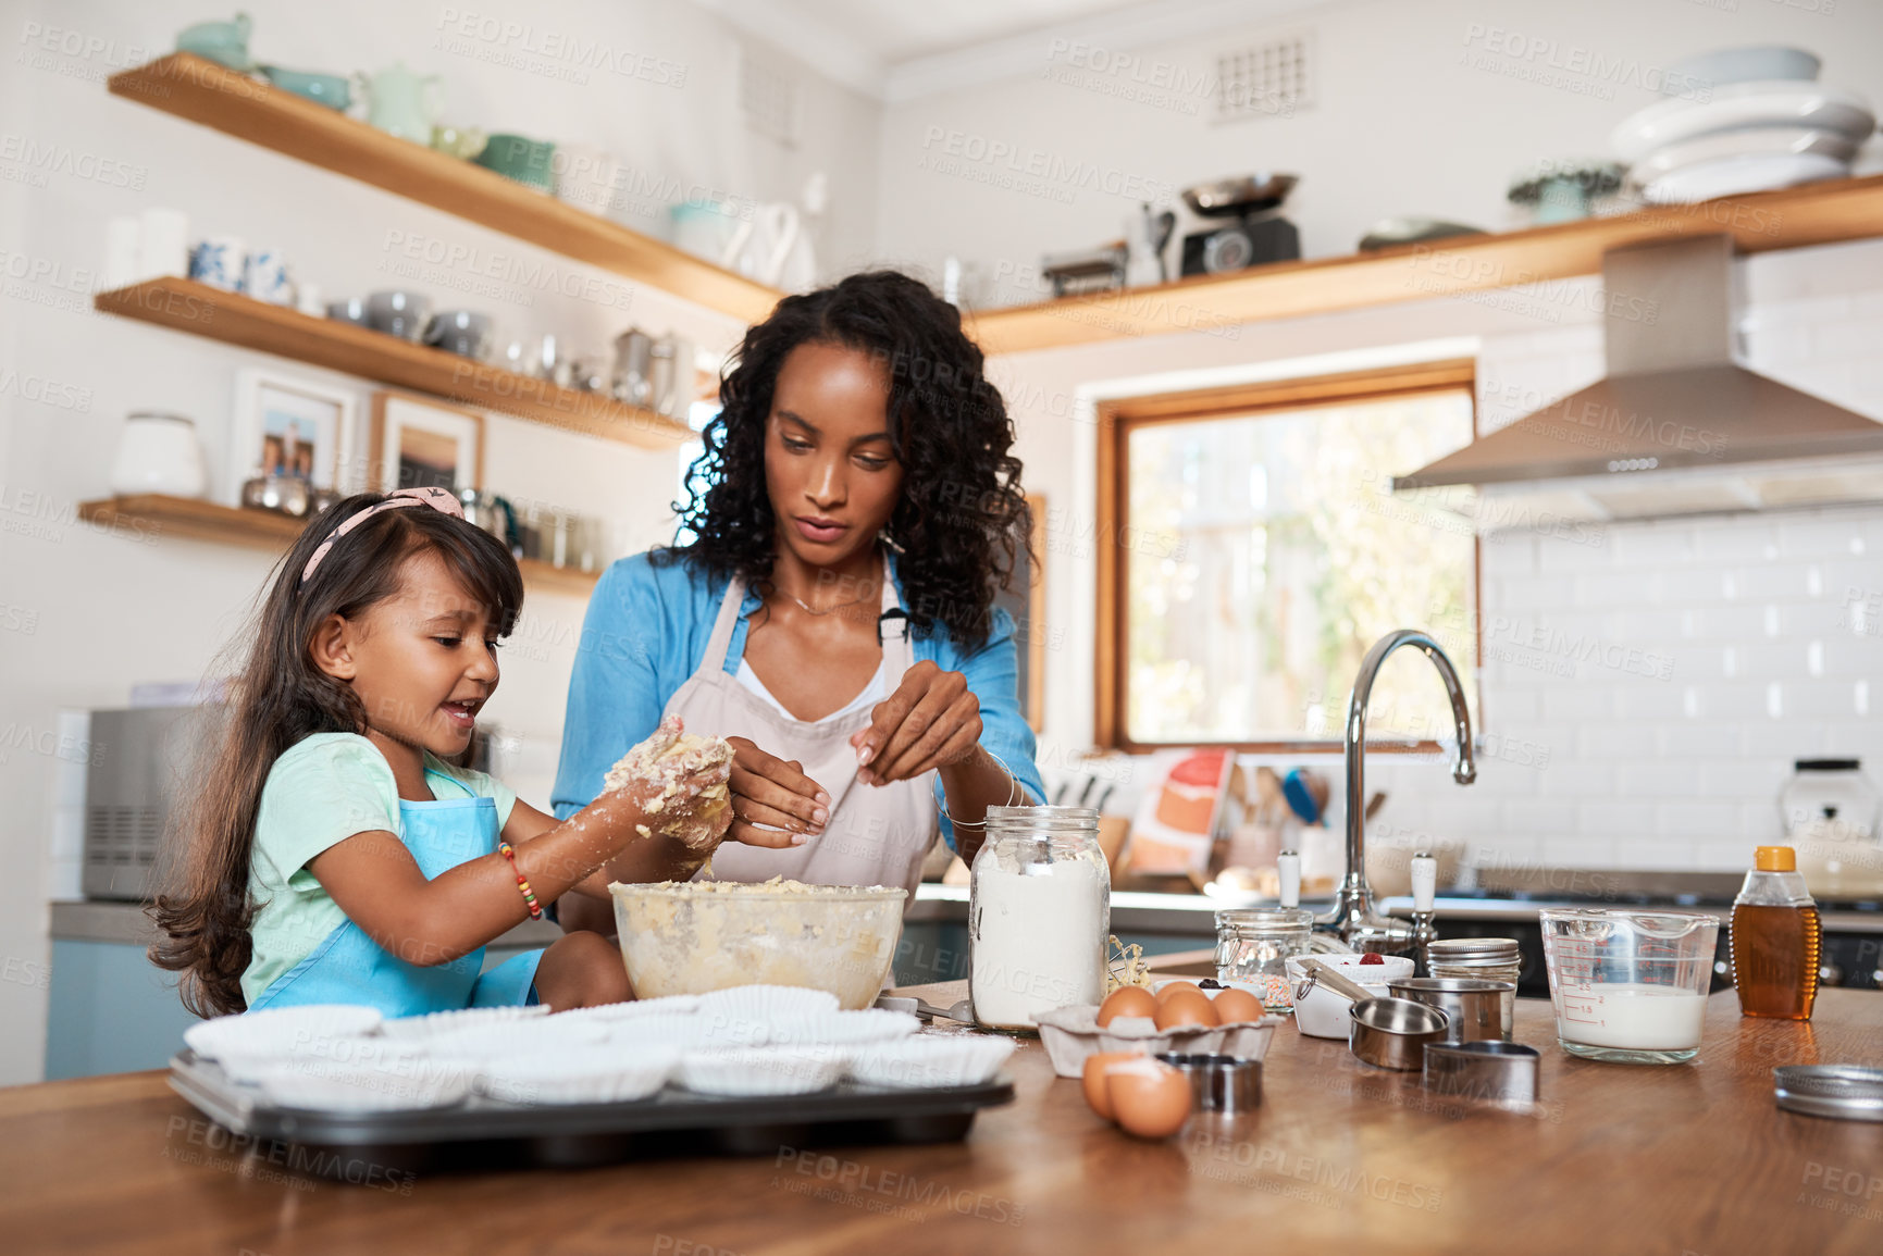
[[[783,296],[776,288],[565,205],[482,166],[388,136],[345,113],[190,53],[171,53],[115,73],[109,89],[113,96],[371,183],[565,258],[599,266],[623,279],[731,314],[740,322],[759,322]]]

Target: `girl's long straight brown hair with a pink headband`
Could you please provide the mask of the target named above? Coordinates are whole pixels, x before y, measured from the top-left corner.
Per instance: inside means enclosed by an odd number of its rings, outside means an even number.
[[[314,733],[360,733],[365,708],[352,685],[322,672],[313,659],[314,633],[330,616],[354,620],[394,597],[401,565],[414,554],[437,554],[463,591],[476,599],[499,636],[523,604],[516,559],[490,533],[431,507],[382,510],[341,537],[301,584],[301,571],[322,540],[345,520],[384,501],[358,493],[309,523],[273,576],[256,614],[252,644],[224,697],[220,740],[198,761],[198,789],[171,821],[166,838],[166,893],[151,917],[162,938],[151,960],[183,974],[179,994],[200,1017],[245,1011],[241,975],[252,955],[249,928],[249,861],[262,785],[275,761]]]

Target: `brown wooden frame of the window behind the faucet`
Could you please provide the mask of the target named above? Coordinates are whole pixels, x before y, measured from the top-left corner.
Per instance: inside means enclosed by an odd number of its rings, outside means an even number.
[[[1339,738],[1301,738],[1284,742],[1137,742],[1128,736],[1124,719],[1126,702],[1126,606],[1122,597],[1124,563],[1130,554],[1122,544],[1109,544],[1109,539],[1122,537],[1130,527],[1130,439],[1137,427],[1154,424],[1196,422],[1211,418],[1250,418],[1263,412],[1311,411],[1320,407],[1352,405],[1356,401],[1376,401],[1382,397],[1407,397],[1425,392],[1465,390],[1473,397],[1471,431],[1478,437],[1476,407],[1476,362],[1457,358],[1448,362],[1424,362],[1403,367],[1380,367],[1373,371],[1350,371],[1344,375],[1316,375],[1307,378],[1265,380],[1256,384],[1233,384],[1228,388],[1205,388],[1181,394],[1158,394],[1147,397],[1120,397],[1098,407],[1098,604],[1094,614],[1094,727],[1092,740],[1105,749],[1126,753],[1149,753],[1175,746],[1228,746],[1237,751],[1254,753],[1339,753]],[[1482,589],[1484,552],[1473,539],[1471,582],[1473,589]],[[1474,653],[1482,657],[1482,616],[1473,625]],[[1478,695],[1478,721],[1484,721],[1484,697]],[[1437,742],[1367,742],[1371,751],[1435,753]]]

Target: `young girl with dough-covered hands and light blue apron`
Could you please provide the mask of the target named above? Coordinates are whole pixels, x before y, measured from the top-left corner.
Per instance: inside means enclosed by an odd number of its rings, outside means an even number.
[[[484,947],[565,893],[606,902],[606,864],[636,825],[693,817],[727,768],[685,776],[652,812],[661,785],[638,780],[557,825],[448,766],[497,687],[497,640],[522,601],[508,550],[444,490],[360,493],[301,533],[186,813],[183,883],[156,900],[168,938],[151,958],[183,974],[192,1011],[633,998],[601,934],[480,975]]]

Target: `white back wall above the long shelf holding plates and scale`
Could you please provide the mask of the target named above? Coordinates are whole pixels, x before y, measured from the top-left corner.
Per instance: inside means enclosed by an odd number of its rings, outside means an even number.
[[[1220,51],[1296,30],[1318,49],[1311,105],[1213,124],[1215,98],[1181,90],[1209,83]],[[1024,279],[1041,252],[1119,239],[1143,200],[1177,205],[1179,235],[1196,230],[1175,192],[1256,169],[1301,177],[1286,213],[1309,258],[1352,252],[1393,215],[1497,230],[1516,220],[1514,171],[1606,154],[1668,66],[1774,41],[1819,53],[1827,83],[1872,96],[1883,83],[1883,6],[1851,2],[1335,0],[1147,47],[1041,36],[1026,77],[885,109],[877,241],[936,271],[970,260],[1004,279],[990,303],[1009,305],[1041,299]],[[1570,70],[1537,81],[1552,62]]]

